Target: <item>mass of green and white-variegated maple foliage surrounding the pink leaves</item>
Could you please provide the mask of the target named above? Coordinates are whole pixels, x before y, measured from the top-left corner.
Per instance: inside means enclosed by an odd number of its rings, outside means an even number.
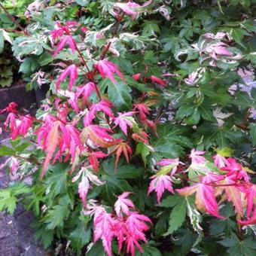
[[[36,216],[35,237],[45,248],[53,245],[55,239],[63,239],[69,241],[67,244],[77,251],[75,254],[87,251],[88,256],[105,255],[102,242],[93,244],[93,213],[84,214],[84,202],[78,195],[81,168],[92,164],[88,158],[92,153],[103,152],[105,157],[98,159],[99,169],[92,173],[105,183],[98,186],[99,181],[90,180],[86,200],[96,200],[105,206],[106,212],[113,213],[117,197],[131,192],[134,211],[147,215],[153,222],[146,233],[150,240],[141,244],[144,252],[136,250],[136,255],[254,255],[255,239],[251,231],[254,227],[240,229],[233,206],[224,201],[226,198],[219,198],[220,212],[225,219],[217,219],[199,210],[194,196],[165,192],[158,204],[155,193],[148,194],[148,185],[159,168],[157,162],[164,158],[179,158],[184,163],[172,177],[174,190],[197,184],[199,175],[206,172],[223,174],[210,162],[215,152],[223,157],[232,155],[252,173],[249,169],[256,163],[253,116],[256,95],[255,89],[251,90],[256,64],[254,1],[155,0],[139,8],[134,20],[126,14],[120,18],[117,13],[121,11],[114,0],[52,0],[29,7],[31,3],[4,1],[23,32],[17,32],[20,31],[17,24],[0,11],[0,85],[10,86],[14,76],[13,63],[4,54],[5,47],[11,45],[13,55],[21,61],[18,72],[28,82],[27,89],[50,84],[50,90],[43,102],[44,108],[38,109],[26,136],[0,148],[0,156],[12,157],[8,161],[19,160],[20,178],[27,174],[33,178],[29,186],[17,182],[0,190],[0,210],[13,213],[19,200],[27,210],[32,210]],[[32,9],[25,15],[28,7]],[[78,22],[78,29],[70,31],[80,52],[66,45],[53,57],[61,36],[56,38],[53,47],[50,32],[56,29],[56,22],[64,26],[69,20]],[[224,49],[212,50],[220,42]],[[221,54],[220,50],[227,51]],[[118,73],[114,74],[116,84],[102,78],[95,69],[99,59],[115,63],[126,82]],[[71,64],[78,67],[75,85],[67,90],[68,78],[56,92],[56,80]],[[140,74],[139,78],[133,79],[136,74]],[[93,89],[90,99],[75,98],[73,103],[78,104],[80,110],[75,111],[70,103],[72,97],[78,86],[87,84],[92,77],[99,92]],[[163,79],[164,84],[154,81],[154,77]],[[50,144],[42,138],[40,145],[35,143],[44,118],[52,115],[62,125],[59,130],[68,123],[80,133],[86,126],[83,122],[86,114],[99,102],[97,93],[113,104],[114,117],[133,112],[133,117],[126,119],[132,123],[128,122],[127,134],[114,123],[116,119],[102,110],[94,113],[92,121],[93,125],[113,131],[109,133],[114,139],[127,143],[131,156],[122,151],[115,169],[118,155],[115,147],[119,142],[111,145],[107,139],[105,144],[109,145],[100,147],[97,145],[100,136],[94,138],[90,134],[89,139],[83,141],[86,150],[81,154],[77,142],[71,146],[75,148],[75,157],[72,156],[70,162],[65,143],[59,145],[62,151],[53,148],[53,159],[49,160],[47,172],[39,181],[46,158],[44,151],[47,151],[44,144]],[[139,110],[133,110],[133,104],[140,103],[149,108],[147,117],[151,123],[140,117]],[[62,116],[65,111],[67,117]],[[48,133],[47,130],[44,136]],[[72,133],[59,134],[55,138],[58,142],[62,136],[69,137]],[[83,139],[84,134],[79,135],[79,139]],[[197,168],[190,166],[187,157],[193,148],[206,151],[206,163]],[[164,168],[168,169],[164,166],[163,172]],[[92,167],[87,169],[90,172]],[[255,183],[255,179],[251,182]],[[117,247],[117,242],[113,242],[114,254],[118,254]]]

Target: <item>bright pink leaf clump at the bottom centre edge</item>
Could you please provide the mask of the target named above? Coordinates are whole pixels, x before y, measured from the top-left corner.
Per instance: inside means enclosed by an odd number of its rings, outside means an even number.
[[[102,244],[108,256],[112,255],[111,241],[117,238],[119,253],[123,249],[123,243],[126,245],[126,254],[135,255],[136,247],[143,253],[140,240],[147,242],[145,231],[149,230],[147,222],[152,224],[151,220],[140,214],[133,212],[135,209],[133,202],[127,199],[130,192],[121,194],[114,204],[115,215],[106,212],[102,206],[97,206],[91,201],[87,205],[88,211],[85,214],[94,214],[93,233],[94,242],[102,239]]]

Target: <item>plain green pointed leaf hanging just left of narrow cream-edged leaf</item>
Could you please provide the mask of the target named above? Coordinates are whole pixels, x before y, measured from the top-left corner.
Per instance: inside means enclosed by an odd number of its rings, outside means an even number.
[[[169,228],[164,234],[168,236],[172,234],[175,230],[178,230],[179,227],[183,224],[187,214],[187,203],[185,197],[180,197],[179,202],[172,209],[171,214],[169,215]]]

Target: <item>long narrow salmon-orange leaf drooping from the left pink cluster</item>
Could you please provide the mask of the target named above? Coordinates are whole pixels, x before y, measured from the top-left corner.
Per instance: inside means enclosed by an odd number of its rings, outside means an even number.
[[[50,163],[51,158],[53,157],[53,153],[56,150],[56,147],[59,145],[59,123],[60,121],[56,120],[53,123],[53,126],[49,130],[49,134],[47,136],[46,140],[46,148],[45,151],[47,152],[47,155],[44,160],[44,166],[41,171],[40,178],[42,179],[44,177],[44,173],[46,172],[47,166]]]

